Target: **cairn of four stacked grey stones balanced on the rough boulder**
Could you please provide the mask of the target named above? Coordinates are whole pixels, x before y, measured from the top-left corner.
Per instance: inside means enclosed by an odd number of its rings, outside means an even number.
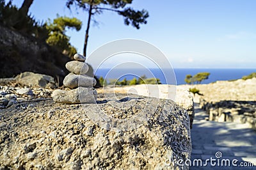
[[[86,75],[89,66],[84,63],[85,57],[74,55],[75,61],[69,61],[66,68],[69,73],[63,80],[63,85],[69,89],[56,89],[52,93],[54,102],[63,104],[91,104],[97,99],[97,91],[93,88],[96,80]]]

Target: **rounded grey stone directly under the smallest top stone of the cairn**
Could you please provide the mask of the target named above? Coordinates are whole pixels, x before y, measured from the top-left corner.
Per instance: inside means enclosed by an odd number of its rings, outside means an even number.
[[[89,70],[89,66],[81,61],[69,61],[66,64],[66,68],[68,69],[68,71],[75,74],[85,74]]]

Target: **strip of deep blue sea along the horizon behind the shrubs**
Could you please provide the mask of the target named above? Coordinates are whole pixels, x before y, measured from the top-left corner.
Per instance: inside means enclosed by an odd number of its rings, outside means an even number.
[[[177,84],[186,84],[184,81],[186,75],[191,74],[195,75],[199,72],[209,72],[211,73],[209,75],[209,79],[202,81],[202,84],[208,84],[215,81],[228,81],[228,80],[234,80],[234,79],[241,79],[244,75],[249,75],[252,72],[256,72],[256,68],[174,68],[174,73],[172,70],[164,70],[163,72],[160,69],[157,68],[150,68],[149,71],[143,70],[143,69],[115,69],[110,70],[108,68],[101,68],[96,70],[95,75],[97,77],[104,77],[109,79],[122,79],[126,78],[127,80],[131,80],[135,75],[146,75],[147,78],[156,77],[157,79],[160,79],[162,84],[166,84],[166,79],[164,77],[171,77],[171,79],[176,78]],[[165,76],[164,76],[165,75]],[[175,77],[174,77],[175,75]],[[138,78],[138,76],[136,77]],[[168,81],[169,82],[169,81]],[[172,81],[173,82],[173,81]],[[174,84],[174,83],[168,83],[168,84]]]

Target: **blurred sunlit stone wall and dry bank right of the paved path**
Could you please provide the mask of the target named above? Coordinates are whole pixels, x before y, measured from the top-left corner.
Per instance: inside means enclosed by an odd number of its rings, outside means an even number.
[[[191,87],[203,94],[195,95],[195,101],[207,111],[209,120],[246,123],[256,130],[256,78],[217,81]]]

